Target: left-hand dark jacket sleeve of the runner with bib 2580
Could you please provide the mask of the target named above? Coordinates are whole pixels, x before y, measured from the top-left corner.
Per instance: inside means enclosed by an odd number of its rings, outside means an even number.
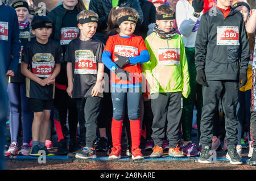
[[[200,20],[199,28],[196,35],[195,43],[195,64],[196,70],[204,69],[205,57],[207,54],[208,44],[208,22],[206,17],[203,15]]]

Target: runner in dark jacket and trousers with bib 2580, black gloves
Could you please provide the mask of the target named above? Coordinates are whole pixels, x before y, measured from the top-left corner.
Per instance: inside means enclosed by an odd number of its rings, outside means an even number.
[[[243,16],[230,5],[230,0],[218,0],[217,5],[202,16],[196,37],[196,81],[203,85],[200,137],[203,149],[199,163],[212,163],[209,151],[213,116],[221,98],[226,120],[226,158],[232,164],[242,164],[236,150],[236,107],[238,89],[247,82],[250,53]]]

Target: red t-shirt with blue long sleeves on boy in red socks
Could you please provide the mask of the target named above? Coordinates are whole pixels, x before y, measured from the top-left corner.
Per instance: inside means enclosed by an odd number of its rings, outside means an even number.
[[[102,62],[108,69],[117,65],[114,61],[118,58],[114,54],[129,57],[131,64],[124,66],[122,69],[129,71],[131,79],[122,81],[111,72],[111,85],[114,87],[130,88],[141,87],[141,65],[140,63],[147,62],[149,60],[149,54],[141,36],[131,35],[123,37],[118,35],[110,36],[104,53],[102,54]]]

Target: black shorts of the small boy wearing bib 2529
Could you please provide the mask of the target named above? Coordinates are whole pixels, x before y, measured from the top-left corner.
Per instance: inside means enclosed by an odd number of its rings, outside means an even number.
[[[30,108],[32,112],[43,112],[44,110],[53,109],[53,99],[51,100],[42,100],[30,98]]]

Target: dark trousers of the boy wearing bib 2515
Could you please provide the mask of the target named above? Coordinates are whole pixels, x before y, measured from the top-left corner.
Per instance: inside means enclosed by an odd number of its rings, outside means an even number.
[[[101,111],[100,97],[77,98],[77,111],[79,120],[84,119],[85,123],[85,146],[93,148],[93,142],[96,140],[96,131],[98,124],[98,116]]]

